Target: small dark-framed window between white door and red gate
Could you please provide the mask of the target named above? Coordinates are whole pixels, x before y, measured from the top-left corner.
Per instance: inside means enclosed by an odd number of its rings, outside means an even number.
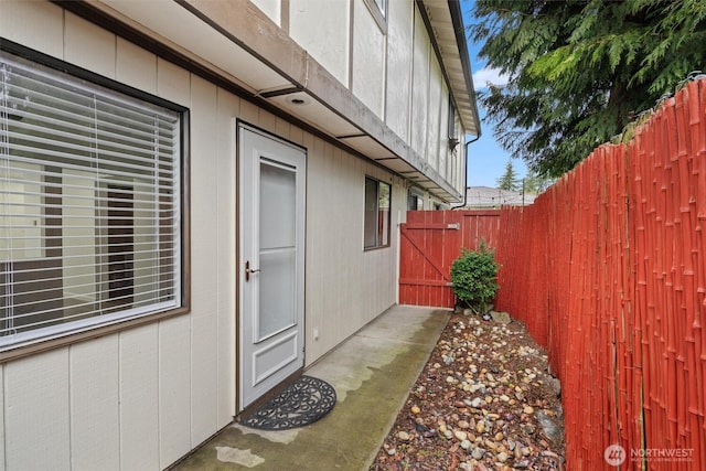
[[[365,223],[363,247],[389,246],[391,185],[365,178]]]

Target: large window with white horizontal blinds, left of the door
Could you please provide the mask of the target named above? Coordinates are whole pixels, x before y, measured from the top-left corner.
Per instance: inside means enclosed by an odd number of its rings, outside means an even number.
[[[0,351],[181,307],[182,113],[0,51]]]

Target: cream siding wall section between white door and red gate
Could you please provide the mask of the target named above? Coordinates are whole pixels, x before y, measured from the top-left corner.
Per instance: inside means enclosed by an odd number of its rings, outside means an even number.
[[[307,172],[307,363],[319,358],[395,303],[396,212],[406,206],[393,185],[391,247],[364,250],[365,176],[389,173],[314,139]],[[319,338],[314,338],[314,330]]]

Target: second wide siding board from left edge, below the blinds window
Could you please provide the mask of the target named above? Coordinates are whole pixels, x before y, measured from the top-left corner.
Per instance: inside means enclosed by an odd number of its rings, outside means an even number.
[[[120,469],[119,364],[117,335],[69,349],[73,469]]]

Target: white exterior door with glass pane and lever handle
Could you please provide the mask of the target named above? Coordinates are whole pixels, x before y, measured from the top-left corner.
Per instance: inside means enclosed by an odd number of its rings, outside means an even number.
[[[303,366],[304,150],[240,125],[239,408]]]

